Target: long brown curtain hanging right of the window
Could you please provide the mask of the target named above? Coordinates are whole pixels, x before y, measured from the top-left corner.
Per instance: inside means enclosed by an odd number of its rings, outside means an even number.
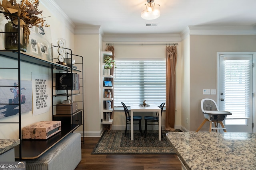
[[[176,95],[176,46],[166,46],[166,116],[165,130],[173,131],[175,123],[175,95]]]

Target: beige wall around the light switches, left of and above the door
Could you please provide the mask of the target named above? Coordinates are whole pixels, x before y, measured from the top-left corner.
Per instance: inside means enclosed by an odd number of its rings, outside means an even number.
[[[203,98],[216,100],[216,95],[203,95],[202,91],[217,88],[217,52],[256,51],[255,44],[256,35],[190,35],[189,131],[196,131],[204,120],[200,101]],[[200,131],[208,131],[208,127],[209,123]]]

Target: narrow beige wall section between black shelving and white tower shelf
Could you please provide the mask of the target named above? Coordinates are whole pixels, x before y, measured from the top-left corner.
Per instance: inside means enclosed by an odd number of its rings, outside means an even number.
[[[99,35],[76,34],[75,50],[84,58],[84,104],[86,136],[99,136],[100,124],[100,53]]]

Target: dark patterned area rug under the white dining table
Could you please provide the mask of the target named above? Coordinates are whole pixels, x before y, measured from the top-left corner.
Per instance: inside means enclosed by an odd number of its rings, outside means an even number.
[[[157,130],[148,130],[146,138],[135,130],[134,140],[131,141],[130,131],[127,131],[126,136],[124,130],[104,131],[91,154],[175,154],[165,136],[168,132],[162,131],[162,141],[159,141]],[[181,132],[181,130],[172,132]]]

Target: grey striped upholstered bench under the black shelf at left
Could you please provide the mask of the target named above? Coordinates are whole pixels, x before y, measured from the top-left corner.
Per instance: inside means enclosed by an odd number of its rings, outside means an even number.
[[[25,162],[26,170],[74,170],[81,160],[81,134],[70,133],[40,157]]]

